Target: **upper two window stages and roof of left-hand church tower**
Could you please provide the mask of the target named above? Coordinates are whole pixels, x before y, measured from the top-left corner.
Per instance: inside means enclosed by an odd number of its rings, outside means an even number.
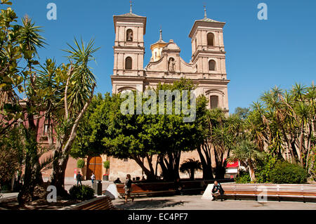
[[[131,5],[130,5],[131,6]],[[144,76],[146,17],[132,12],[114,15],[114,76]]]

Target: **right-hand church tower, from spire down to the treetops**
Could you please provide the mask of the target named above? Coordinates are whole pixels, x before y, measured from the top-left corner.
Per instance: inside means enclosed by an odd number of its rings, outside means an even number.
[[[195,65],[197,73],[202,74],[202,79],[213,83],[212,89],[204,91],[204,95],[209,98],[209,107],[220,107],[228,112],[224,25],[225,22],[207,18],[204,8],[204,18],[195,20],[189,37],[192,44],[192,64]]]

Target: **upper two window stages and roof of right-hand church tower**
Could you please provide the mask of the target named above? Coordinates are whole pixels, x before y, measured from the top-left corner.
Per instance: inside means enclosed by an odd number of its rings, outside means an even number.
[[[225,48],[223,41],[223,27],[225,22],[211,20],[206,16],[195,20],[189,37],[192,39],[192,63],[197,72],[202,73],[204,79],[226,79]]]

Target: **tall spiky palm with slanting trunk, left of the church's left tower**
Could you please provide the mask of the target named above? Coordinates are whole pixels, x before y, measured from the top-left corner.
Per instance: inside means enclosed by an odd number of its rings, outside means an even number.
[[[88,63],[94,60],[93,53],[99,48],[93,47],[93,40],[88,44],[81,43],[74,39],[74,46],[68,44],[70,49],[67,58],[70,65],[62,66],[58,70],[58,79],[62,79],[62,90],[60,91],[60,111],[63,116],[55,117],[57,125],[55,147],[53,150],[53,173],[51,174],[51,184],[57,188],[58,195],[67,195],[64,189],[65,170],[69,158],[69,153],[77,136],[79,123],[88,109],[93,98],[96,87],[96,78],[91,72]],[[52,136],[52,135],[51,135]]]

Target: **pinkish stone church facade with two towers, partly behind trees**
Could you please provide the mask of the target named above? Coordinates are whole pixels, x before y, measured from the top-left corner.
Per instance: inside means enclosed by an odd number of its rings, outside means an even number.
[[[204,10],[205,11],[205,10]],[[189,37],[192,45],[190,62],[180,58],[180,47],[171,39],[165,42],[160,30],[159,40],[150,46],[152,57],[144,66],[144,35],[146,17],[130,11],[124,15],[114,15],[114,67],[111,75],[112,93],[155,88],[159,83],[171,84],[181,77],[192,79],[197,84],[195,95],[204,94],[209,99],[209,108],[220,107],[228,110],[228,83],[225,68],[225,47],[223,27],[225,22],[207,18],[206,11],[202,20],[195,20]],[[197,152],[183,152],[180,164],[186,159],[197,159]],[[143,176],[143,171],[132,159],[110,160],[110,180],[125,179],[126,173],[132,178]],[[153,159],[153,162],[155,159]],[[159,166],[157,174],[160,174]],[[180,173],[181,178],[187,174]],[[202,178],[202,173],[196,174]]]

